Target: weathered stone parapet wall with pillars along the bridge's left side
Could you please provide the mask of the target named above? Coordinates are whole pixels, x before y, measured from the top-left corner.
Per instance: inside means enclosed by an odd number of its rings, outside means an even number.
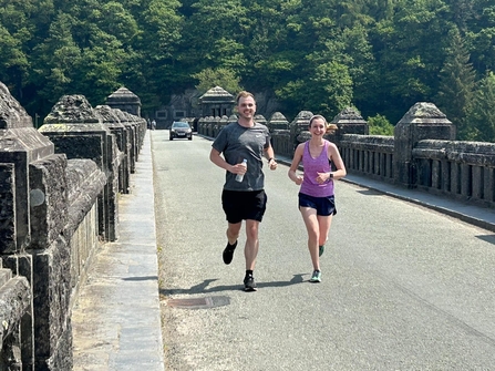
[[[117,237],[117,193],[128,192],[145,131],[143,118],[93,110],[80,95],[63,97],[37,131],[0,83],[0,318],[8,321],[0,370],[72,369],[72,302],[94,251]]]

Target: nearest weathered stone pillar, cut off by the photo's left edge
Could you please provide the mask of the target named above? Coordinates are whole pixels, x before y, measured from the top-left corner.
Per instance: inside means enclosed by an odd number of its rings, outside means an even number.
[[[13,353],[23,370],[72,369],[65,168],[65,156],[54,154],[53,143],[0,83],[0,255],[31,290],[2,300],[29,306],[18,323],[20,354]]]

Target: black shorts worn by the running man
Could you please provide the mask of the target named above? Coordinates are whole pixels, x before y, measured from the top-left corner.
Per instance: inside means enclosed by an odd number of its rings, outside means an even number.
[[[249,192],[224,189],[221,206],[230,224],[246,219],[261,221],[267,208],[267,195],[264,189]]]

